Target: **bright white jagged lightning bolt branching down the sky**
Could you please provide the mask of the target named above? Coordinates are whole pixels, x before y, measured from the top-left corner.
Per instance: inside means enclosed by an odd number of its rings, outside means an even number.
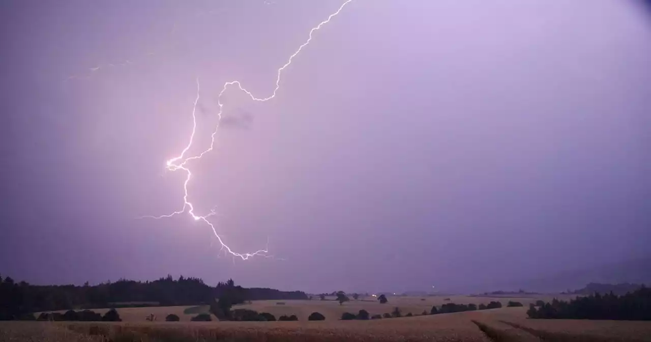
[[[200,93],[200,90],[201,90],[200,85],[199,85],[199,78],[197,78],[197,98],[195,98],[194,106],[192,108],[192,120],[193,120],[192,133],[190,134],[190,138],[189,138],[189,141],[188,141],[186,147],[181,151],[181,153],[178,156],[167,160],[167,163],[166,163],[166,167],[170,171],[182,170],[182,171],[184,171],[186,173],[186,179],[185,179],[185,181],[183,183],[183,189],[184,189],[183,207],[180,210],[176,210],[176,211],[172,212],[171,214],[165,214],[165,215],[161,215],[161,216],[143,216],[143,218],[154,218],[154,219],[158,220],[158,219],[161,219],[161,218],[171,218],[171,217],[176,216],[178,214],[183,214],[184,212],[187,212],[188,214],[190,214],[190,216],[195,221],[203,221],[204,223],[206,223],[212,229],[212,232],[214,233],[215,237],[217,238],[217,241],[219,241],[219,244],[221,244],[220,252],[224,251],[225,253],[230,253],[230,255],[232,255],[233,258],[240,257],[242,260],[247,260],[247,259],[249,259],[251,257],[255,257],[256,255],[264,256],[264,257],[272,257],[271,255],[268,255],[268,253],[269,253],[269,250],[268,250],[269,249],[268,248],[269,241],[267,241],[267,247],[266,248],[258,249],[257,251],[244,252],[244,253],[233,251],[224,242],[222,237],[219,236],[219,234],[217,233],[217,229],[215,229],[214,224],[211,223],[208,220],[208,218],[210,218],[210,216],[215,215],[215,210],[211,210],[208,214],[206,214],[204,216],[195,214],[195,207],[188,200],[189,195],[188,195],[188,192],[187,192],[187,184],[190,182],[190,179],[192,178],[192,172],[190,171],[187,163],[190,162],[191,160],[201,159],[202,156],[204,156],[206,153],[208,153],[208,152],[210,152],[210,151],[212,151],[214,149],[215,137],[217,135],[217,131],[219,130],[219,122],[221,122],[221,114],[223,113],[223,104],[221,103],[221,97],[224,95],[224,93],[226,93],[226,91],[229,89],[229,87],[236,86],[238,89],[240,89],[240,91],[243,91],[244,93],[249,95],[249,97],[253,101],[266,102],[268,100],[271,100],[272,98],[275,98],[278,90],[280,89],[280,82],[281,82],[281,76],[283,74],[283,71],[288,66],[290,66],[290,64],[292,64],[292,61],[294,60],[294,57],[296,57],[303,50],[303,48],[305,48],[305,46],[310,44],[310,42],[312,41],[312,34],[314,34],[315,31],[318,31],[319,29],[321,29],[321,27],[323,25],[326,25],[327,23],[329,23],[332,18],[337,16],[337,14],[339,14],[339,12],[341,12],[344,9],[344,7],[346,7],[346,5],[348,5],[352,1],[353,0],[346,0],[337,9],[337,11],[335,11],[333,14],[330,14],[327,17],[326,20],[321,21],[318,25],[316,25],[315,27],[312,27],[307,40],[303,44],[301,44],[301,46],[298,47],[298,50],[294,51],[294,53],[292,55],[290,55],[287,62],[278,69],[278,72],[277,72],[277,75],[276,75],[275,88],[273,89],[273,92],[271,93],[271,95],[269,95],[267,97],[256,97],[255,95],[253,95],[253,93],[251,93],[250,91],[247,91],[247,89],[242,87],[242,83],[240,83],[240,81],[229,81],[229,82],[224,83],[224,86],[221,89],[221,92],[219,92],[219,96],[217,96],[217,104],[219,104],[219,113],[217,113],[217,124],[215,125],[215,130],[210,135],[210,137],[211,137],[210,147],[208,147],[208,149],[204,150],[203,152],[201,152],[201,153],[199,153],[199,154],[197,154],[195,156],[186,157],[187,151],[192,147],[194,137],[195,137],[195,132],[197,131],[197,116],[195,115],[195,113],[197,111],[197,103],[199,102],[199,93]]]

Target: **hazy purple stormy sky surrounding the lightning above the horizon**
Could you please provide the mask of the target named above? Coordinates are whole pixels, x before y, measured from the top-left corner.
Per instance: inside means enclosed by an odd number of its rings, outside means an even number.
[[[182,207],[165,160],[195,79],[197,153],[223,83],[268,96],[343,0],[266,2],[0,4],[3,275],[475,289],[648,256],[651,21],[618,0],[355,0],[276,98],[223,96],[192,164],[225,242],[283,260],[218,257],[187,214],[135,220]]]

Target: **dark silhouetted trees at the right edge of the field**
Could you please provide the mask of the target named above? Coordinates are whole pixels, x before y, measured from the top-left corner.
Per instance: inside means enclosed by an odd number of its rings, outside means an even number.
[[[554,299],[551,303],[529,307],[527,315],[533,319],[613,319],[651,321],[651,289],[641,287],[618,296],[590,294],[570,302]]]

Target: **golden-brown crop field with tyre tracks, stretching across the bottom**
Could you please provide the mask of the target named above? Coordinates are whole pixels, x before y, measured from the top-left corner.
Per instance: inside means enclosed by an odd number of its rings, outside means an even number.
[[[339,321],[341,313],[366,309],[371,314],[429,311],[447,302],[481,304],[518,300],[527,306],[537,299],[495,297],[389,297],[389,303],[352,300],[256,301],[237,307],[280,315],[297,315],[298,322],[189,322],[207,307],[126,307],[123,322],[0,322],[0,341],[651,341],[651,322],[531,320],[526,307],[503,307],[464,313],[401,317],[372,321]],[[284,304],[278,304],[284,302]],[[96,310],[102,313],[105,310]],[[318,311],[326,321],[310,322]],[[148,322],[150,313],[156,322]],[[182,322],[164,322],[175,313]]]

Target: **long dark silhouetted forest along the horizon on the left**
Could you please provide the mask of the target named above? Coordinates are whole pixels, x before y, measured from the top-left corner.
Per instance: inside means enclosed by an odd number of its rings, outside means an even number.
[[[210,304],[226,291],[238,293],[238,300],[308,299],[302,291],[235,286],[232,279],[215,287],[200,278],[172,276],[155,281],[120,279],[98,285],[30,285],[0,277],[0,320],[20,319],[27,313],[66,309],[124,306],[173,306]]]

